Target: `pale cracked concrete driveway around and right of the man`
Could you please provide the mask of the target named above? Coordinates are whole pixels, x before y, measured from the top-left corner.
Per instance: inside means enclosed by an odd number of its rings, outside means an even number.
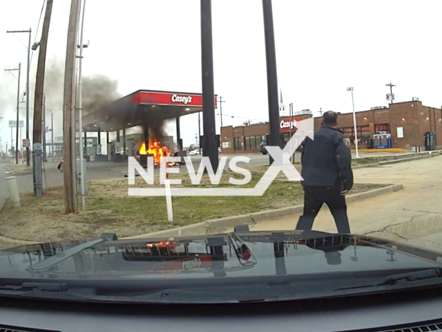
[[[356,183],[401,183],[403,190],[348,206],[353,233],[407,241],[442,250],[442,156],[383,167],[355,169]],[[252,230],[294,229],[298,215],[262,221]],[[315,230],[336,232],[327,208],[318,214]]]

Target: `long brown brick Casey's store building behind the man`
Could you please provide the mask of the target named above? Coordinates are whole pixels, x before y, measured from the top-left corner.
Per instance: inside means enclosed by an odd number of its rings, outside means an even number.
[[[311,114],[294,116],[293,120],[311,118]],[[359,148],[368,147],[367,142],[375,133],[386,131],[392,134],[392,147],[412,149],[424,147],[424,136],[427,131],[436,132],[436,145],[442,146],[442,110],[435,107],[423,106],[419,100],[411,102],[396,102],[389,107],[374,107],[369,111],[356,112],[356,130]],[[281,133],[285,140],[289,139],[289,128],[286,122],[289,117],[281,117]],[[314,118],[315,130],[320,127],[322,118]],[[343,131],[345,137],[354,142],[353,113],[338,116],[338,129]],[[269,133],[268,122],[250,124],[240,127],[221,128],[221,148],[223,154],[256,153],[260,143]],[[402,136],[402,137],[401,137]]]

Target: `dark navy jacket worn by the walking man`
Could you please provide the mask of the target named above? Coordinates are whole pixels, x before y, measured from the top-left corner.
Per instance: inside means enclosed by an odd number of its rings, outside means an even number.
[[[301,181],[304,186],[353,187],[352,152],[343,141],[343,134],[330,127],[320,127],[314,140],[307,138],[301,153]]]

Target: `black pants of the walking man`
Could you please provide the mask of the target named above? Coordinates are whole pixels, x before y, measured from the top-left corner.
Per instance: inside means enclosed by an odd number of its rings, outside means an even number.
[[[339,234],[349,234],[345,196],[336,187],[304,187],[304,213],[300,216],[297,230],[311,230],[313,222],[323,204],[327,204],[334,217]]]

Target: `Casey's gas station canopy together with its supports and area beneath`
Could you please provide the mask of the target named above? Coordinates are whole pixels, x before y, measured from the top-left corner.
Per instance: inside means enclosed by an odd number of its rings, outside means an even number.
[[[217,96],[215,95],[215,108]],[[202,111],[201,93],[182,93],[172,91],[139,90],[126,95],[111,104],[88,113],[82,118],[84,145],[88,133],[98,133],[95,160],[126,161],[128,155],[134,156],[140,145],[149,142],[153,136],[153,127],[161,125],[164,120],[175,119],[177,129],[177,146],[182,148],[180,118]],[[131,135],[128,139],[126,130],[142,127],[142,133]],[[102,142],[101,133],[106,132],[106,142]],[[111,142],[109,133],[116,133],[116,142]],[[135,138],[137,136],[137,138]],[[152,137],[151,137],[152,138]],[[170,136],[164,138],[170,140]],[[101,154],[101,147],[108,147],[108,154]]]

